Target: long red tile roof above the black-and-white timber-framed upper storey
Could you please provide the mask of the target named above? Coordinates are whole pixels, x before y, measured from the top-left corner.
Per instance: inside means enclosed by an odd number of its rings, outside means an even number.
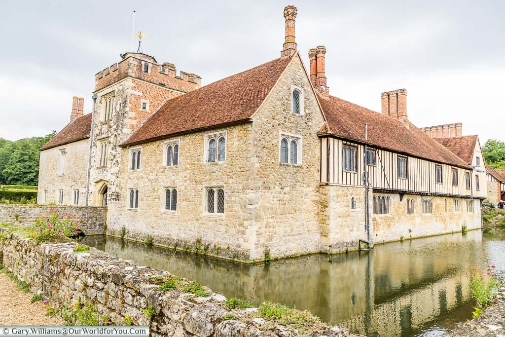
[[[412,123],[409,123],[408,129],[396,119],[339,98],[320,94],[318,98],[329,126],[329,130],[324,130],[323,125],[319,130],[320,135],[332,134],[427,160],[468,167],[462,159]],[[365,140],[367,123],[368,141]]]

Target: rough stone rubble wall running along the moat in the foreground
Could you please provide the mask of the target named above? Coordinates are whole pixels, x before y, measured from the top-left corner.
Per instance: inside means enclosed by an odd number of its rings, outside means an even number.
[[[149,325],[154,337],[298,335],[286,326],[269,325],[258,317],[257,309],[227,309],[225,297],[219,294],[195,298],[177,291],[157,291],[157,285],[149,284],[148,278],[169,275],[168,272],[139,266],[96,249],[74,253],[75,245],[37,245],[14,233],[0,242],[0,263],[27,282],[31,292],[42,294],[53,308],[80,298],[81,302],[95,304],[98,313],[112,324],[124,324],[125,315],[129,315],[133,324]],[[147,318],[142,311],[148,306],[156,311],[154,318]],[[226,314],[235,318],[223,320]],[[312,336],[350,335],[336,326],[315,328]]]

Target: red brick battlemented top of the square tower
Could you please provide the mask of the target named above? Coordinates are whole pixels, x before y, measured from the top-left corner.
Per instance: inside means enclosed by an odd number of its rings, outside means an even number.
[[[181,92],[200,87],[200,76],[184,71],[177,74],[173,63],[160,64],[154,57],[142,53],[126,53],[121,57],[120,62],[95,74],[95,91],[128,76]]]

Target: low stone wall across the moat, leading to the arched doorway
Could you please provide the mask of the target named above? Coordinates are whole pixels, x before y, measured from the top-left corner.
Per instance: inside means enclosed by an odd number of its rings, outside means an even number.
[[[85,234],[103,234],[107,220],[107,208],[92,206],[0,205],[0,223],[32,224],[49,210],[70,214],[79,220],[79,228]]]

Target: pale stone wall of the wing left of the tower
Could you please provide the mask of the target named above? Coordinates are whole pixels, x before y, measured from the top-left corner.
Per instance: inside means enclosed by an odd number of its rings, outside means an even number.
[[[65,173],[58,174],[60,151],[65,149]],[[63,205],[74,204],[74,190],[79,190],[79,205],[86,204],[89,138],[40,152],[37,203],[58,201],[63,190]]]

